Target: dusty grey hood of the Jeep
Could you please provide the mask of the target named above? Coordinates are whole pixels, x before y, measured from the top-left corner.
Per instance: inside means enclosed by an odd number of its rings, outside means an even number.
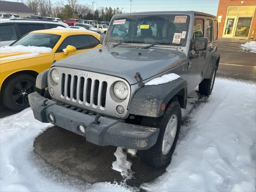
[[[186,60],[186,55],[176,50],[138,49],[104,47],[56,62],[53,66],[76,68],[78,70],[109,74],[126,79],[130,84],[136,84],[134,78],[139,72],[142,79],[146,80]],[[78,71],[79,72],[79,71]]]

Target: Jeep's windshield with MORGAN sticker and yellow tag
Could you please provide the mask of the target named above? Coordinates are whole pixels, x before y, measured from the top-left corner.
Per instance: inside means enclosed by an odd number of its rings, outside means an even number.
[[[111,21],[108,42],[186,46],[190,16],[177,14],[119,16]]]

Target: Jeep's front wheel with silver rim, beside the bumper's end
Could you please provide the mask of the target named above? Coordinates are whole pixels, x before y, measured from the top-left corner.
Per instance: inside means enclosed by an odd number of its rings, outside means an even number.
[[[160,128],[156,144],[148,150],[139,150],[138,157],[148,166],[160,168],[170,163],[181,126],[181,108],[172,100],[164,115],[159,118],[144,117],[141,125]]]

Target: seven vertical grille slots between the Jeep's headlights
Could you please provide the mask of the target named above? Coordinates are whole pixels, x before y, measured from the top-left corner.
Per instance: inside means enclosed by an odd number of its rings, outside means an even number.
[[[67,100],[79,100],[85,104],[105,107],[107,82],[62,73],[62,96]],[[66,78],[67,77],[67,78]]]

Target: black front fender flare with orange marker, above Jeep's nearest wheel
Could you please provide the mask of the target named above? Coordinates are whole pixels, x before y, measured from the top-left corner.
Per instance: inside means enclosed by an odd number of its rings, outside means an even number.
[[[140,88],[129,107],[129,113],[147,117],[160,117],[168,102],[177,96],[181,108],[187,104],[187,82],[182,78],[165,84],[147,85]]]

